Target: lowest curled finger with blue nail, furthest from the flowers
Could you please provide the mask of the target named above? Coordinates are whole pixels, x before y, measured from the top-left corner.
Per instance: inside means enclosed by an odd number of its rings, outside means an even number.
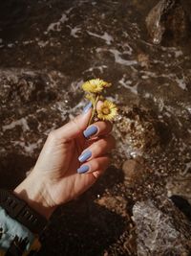
[[[80,168],[77,169],[77,173],[85,174],[96,172],[95,175],[97,176],[102,174],[108,168],[110,162],[111,160],[109,156],[97,157],[81,165]]]

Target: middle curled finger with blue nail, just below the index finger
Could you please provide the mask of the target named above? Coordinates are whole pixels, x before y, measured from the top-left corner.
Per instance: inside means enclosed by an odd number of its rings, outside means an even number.
[[[84,163],[98,156],[109,153],[115,148],[116,140],[112,135],[102,137],[83,151],[78,157],[79,162]]]

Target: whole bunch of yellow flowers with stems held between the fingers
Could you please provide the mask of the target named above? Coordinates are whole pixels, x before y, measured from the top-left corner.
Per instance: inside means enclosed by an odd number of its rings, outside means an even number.
[[[100,79],[85,81],[82,84],[82,89],[86,92],[86,98],[93,104],[92,117],[89,125],[94,119],[112,121],[117,115],[117,105],[113,102],[105,100],[101,92],[112,84]],[[103,103],[97,109],[97,102],[101,100]]]

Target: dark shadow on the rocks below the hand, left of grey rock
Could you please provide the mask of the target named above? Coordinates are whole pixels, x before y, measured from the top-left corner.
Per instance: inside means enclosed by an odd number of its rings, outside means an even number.
[[[103,255],[124,232],[127,219],[108,210],[107,205],[98,205],[93,198],[122,178],[112,168],[81,198],[60,207],[44,232],[38,255]]]

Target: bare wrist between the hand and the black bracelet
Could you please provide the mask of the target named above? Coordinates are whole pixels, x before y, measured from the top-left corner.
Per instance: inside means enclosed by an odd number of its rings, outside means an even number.
[[[46,184],[35,175],[29,175],[22,183],[20,183],[13,193],[28,203],[30,207],[47,220],[53,214],[55,207],[50,206],[47,201]]]

